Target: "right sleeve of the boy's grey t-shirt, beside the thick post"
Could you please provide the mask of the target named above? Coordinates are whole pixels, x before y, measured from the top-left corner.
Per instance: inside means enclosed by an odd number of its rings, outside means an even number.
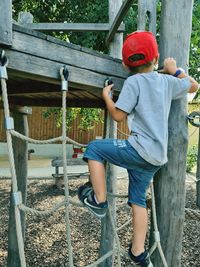
[[[174,100],[186,95],[191,87],[189,77],[180,79],[171,76],[171,82],[173,84],[171,87],[172,99]]]

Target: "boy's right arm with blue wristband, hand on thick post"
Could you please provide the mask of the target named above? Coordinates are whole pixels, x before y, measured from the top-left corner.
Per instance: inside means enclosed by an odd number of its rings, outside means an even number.
[[[166,58],[164,61],[164,71],[168,74],[175,75],[179,68],[177,68],[176,61],[174,58]],[[176,76],[177,78],[186,78],[188,77],[190,79],[191,86],[188,90],[188,93],[195,93],[199,89],[199,84],[195,79],[192,77],[188,76],[184,71],[178,72],[178,75]]]

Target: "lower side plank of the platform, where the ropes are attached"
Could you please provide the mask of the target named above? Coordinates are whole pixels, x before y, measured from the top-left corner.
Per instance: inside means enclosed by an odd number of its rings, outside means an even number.
[[[51,60],[19,53],[13,50],[7,50],[6,55],[9,59],[9,77],[14,75],[15,77],[21,77],[24,79],[60,84],[59,71],[63,66],[63,62],[52,62]],[[96,90],[97,95],[101,96],[101,91],[107,75],[70,65],[67,65],[67,68],[69,70],[70,87],[85,89],[87,91],[91,90],[93,93]],[[112,79],[115,83],[116,89],[121,90],[124,80],[116,77],[112,77]]]

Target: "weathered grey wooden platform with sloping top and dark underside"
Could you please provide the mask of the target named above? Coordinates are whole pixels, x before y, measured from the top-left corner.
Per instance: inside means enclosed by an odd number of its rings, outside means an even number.
[[[111,77],[115,95],[127,73],[121,60],[13,25],[12,47],[5,49],[9,102],[25,106],[61,106],[59,70],[69,70],[69,107],[104,107],[101,92]],[[1,47],[0,45],[0,48]]]

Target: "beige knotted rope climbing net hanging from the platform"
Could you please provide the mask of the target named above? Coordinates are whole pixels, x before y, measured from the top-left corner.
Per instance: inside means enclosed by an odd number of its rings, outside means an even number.
[[[3,62],[3,63],[2,63]],[[21,219],[20,219],[20,210],[23,210],[24,212],[28,212],[34,215],[39,216],[47,216],[61,207],[65,208],[65,223],[66,223],[66,238],[68,243],[68,253],[69,253],[69,267],[74,267],[73,264],[73,251],[72,251],[72,244],[71,244],[71,229],[70,229],[70,220],[69,220],[69,204],[73,204],[75,206],[83,207],[82,204],[79,202],[76,202],[72,200],[69,196],[69,187],[68,187],[68,176],[67,176],[67,157],[66,157],[66,143],[70,142],[72,144],[85,147],[86,145],[80,144],[66,136],[66,97],[67,97],[67,78],[68,78],[68,71],[67,69],[61,68],[61,80],[62,80],[62,136],[56,137],[49,140],[35,140],[32,138],[28,138],[14,130],[14,123],[12,118],[10,117],[9,112],[9,104],[8,104],[8,96],[7,96],[7,86],[6,86],[6,79],[7,79],[7,72],[6,72],[6,65],[7,60],[5,60],[5,57],[0,61],[0,78],[1,78],[1,87],[2,87],[2,96],[3,96],[3,103],[4,103],[4,114],[5,114],[5,121],[6,121],[6,137],[7,137],[7,146],[8,146],[8,155],[9,155],[9,162],[10,162],[10,169],[11,169],[11,176],[12,176],[12,190],[13,190],[13,198],[15,202],[15,220],[16,220],[16,232],[17,232],[17,242],[19,247],[19,256],[20,256],[20,262],[21,266],[26,266],[25,261],[25,255],[24,255],[24,242],[22,237],[22,229],[21,229]],[[16,171],[15,171],[15,163],[14,163],[14,153],[13,153],[13,147],[12,147],[12,136],[16,136],[18,138],[21,138],[22,140],[28,141],[30,143],[36,143],[36,144],[49,144],[53,142],[62,142],[63,147],[63,173],[64,173],[64,184],[65,184],[65,200],[55,204],[52,208],[49,210],[35,210],[29,207],[26,207],[22,203],[21,199],[21,192],[18,191],[17,186],[17,178],[16,178]],[[152,195],[152,214],[153,214],[153,223],[154,223],[154,238],[155,242],[150,249],[150,255],[155,251],[156,248],[158,248],[158,251],[160,253],[162,262],[164,267],[167,267],[167,262],[164,257],[164,253],[161,247],[160,243],[160,234],[158,231],[158,225],[157,225],[157,216],[156,216],[156,207],[155,207],[155,196],[154,196],[154,188],[153,183],[151,184],[151,195]],[[119,198],[126,198],[127,195],[118,195],[118,194],[111,194],[108,193],[108,197],[119,197]],[[123,203],[124,204],[124,203]],[[119,237],[117,232],[130,224],[131,219],[129,219],[126,223],[124,223],[122,226],[116,228],[114,218],[112,217],[112,213],[110,208],[108,209],[109,215],[110,215],[110,222],[112,225],[113,233],[114,233],[114,239],[115,239],[115,245],[113,250],[107,252],[105,255],[103,255],[101,258],[99,258],[97,261],[95,261],[92,264],[87,265],[86,267],[93,267],[97,266],[101,262],[103,262],[106,258],[110,257],[111,255],[116,256],[117,255],[117,263],[118,266],[121,267],[121,254],[125,257],[128,257],[127,253],[124,251],[123,248],[121,248]],[[186,215],[190,216],[191,218],[197,218],[200,219],[200,212],[194,211],[191,209],[186,209]]]

